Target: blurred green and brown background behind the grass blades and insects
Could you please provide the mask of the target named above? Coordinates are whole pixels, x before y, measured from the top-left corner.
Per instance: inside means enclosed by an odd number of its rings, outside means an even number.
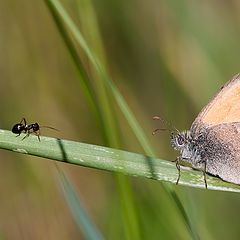
[[[158,156],[174,159],[169,134],[151,136],[160,124],[152,116],[163,116],[178,129],[189,129],[217,89],[239,72],[240,3],[61,2],[107,66]],[[43,135],[104,145],[45,3],[0,1],[0,18],[1,128],[11,129],[24,116],[29,122],[61,130],[46,129]],[[97,26],[97,32],[91,26]],[[86,70],[92,72],[88,64],[85,59]],[[93,73],[91,77],[96,78]],[[143,153],[119,108],[112,106],[121,129],[121,148]],[[0,151],[0,166],[3,239],[84,239],[56,181],[52,162]],[[106,239],[125,239],[114,176],[60,166]],[[161,183],[135,178],[130,182],[142,239],[191,239]],[[173,187],[201,239],[239,238],[238,194]]]

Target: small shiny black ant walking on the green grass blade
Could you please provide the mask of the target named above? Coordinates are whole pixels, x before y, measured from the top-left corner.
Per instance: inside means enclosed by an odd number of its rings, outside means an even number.
[[[56,128],[49,126],[41,126],[41,128],[50,128],[58,131]],[[30,134],[34,133],[40,142],[40,126],[38,123],[27,124],[26,119],[23,118],[20,123],[17,123],[13,126],[12,132],[18,134],[16,137],[20,136],[22,132],[26,133],[26,136],[22,139],[24,140]]]

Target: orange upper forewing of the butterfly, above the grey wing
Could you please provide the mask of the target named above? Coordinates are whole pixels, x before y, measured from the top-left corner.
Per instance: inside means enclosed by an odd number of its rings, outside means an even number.
[[[240,122],[240,74],[228,81],[202,109],[192,129],[197,130],[202,124],[213,126],[232,122]]]

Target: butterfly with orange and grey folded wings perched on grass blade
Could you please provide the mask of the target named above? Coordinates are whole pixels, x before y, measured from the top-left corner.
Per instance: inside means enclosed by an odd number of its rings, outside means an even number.
[[[183,161],[204,174],[240,184],[240,75],[221,88],[189,131],[172,134],[171,145],[180,151],[179,171]]]

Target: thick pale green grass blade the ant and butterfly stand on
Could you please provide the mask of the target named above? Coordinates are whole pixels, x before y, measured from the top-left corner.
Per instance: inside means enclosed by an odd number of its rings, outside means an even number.
[[[178,172],[175,163],[145,155],[97,145],[30,135],[23,141],[7,130],[0,131],[0,148],[35,155],[85,167],[120,172],[175,184]],[[207,177],[208,189],[240,192],[240,186]],[[205,188],[203,174],[182,167],[179,185]]]

